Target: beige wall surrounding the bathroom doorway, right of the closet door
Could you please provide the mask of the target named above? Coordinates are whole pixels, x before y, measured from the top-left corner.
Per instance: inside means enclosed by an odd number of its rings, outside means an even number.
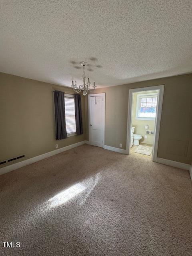
[[[165,85],[158,157],[191,164],[192,74],[96,89],[106,93],[105,144],[126,149],[129,89]]]

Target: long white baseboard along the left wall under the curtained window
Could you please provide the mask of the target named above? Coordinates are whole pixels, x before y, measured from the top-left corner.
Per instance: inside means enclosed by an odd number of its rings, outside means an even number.
[[[11,165],[5,166],[3,168],[0,168],[0,175],[2,175],[4,173],[7,173],[7,172],[11,172],[13,170],[16,170],[16,169],[18,169],[20,167],[26,166],[28,164],[32,164],[34,162],[38,162],[39,160],[42,160],[44,158],[48,158],[50,156],[54,156],[56,154],[59,154],[61,152],[69,150],[71,148],[75,148],[75,147],[81,146],[81,145],[83,145],[85,143],[86,143],[86,140],[83,140],[83,141],[71,144],[69,146],[66,146],[66,147],[63,147],[63,148],[58,148],[56,150],[47,152],[45,154],[42,154],[42,155],[39,155],[39,156],[35,156],[33,158],[26,159],[26,160],[24,160],[22,162],[18,162],[18,163],[15,163],[15,164],[11,164]]]

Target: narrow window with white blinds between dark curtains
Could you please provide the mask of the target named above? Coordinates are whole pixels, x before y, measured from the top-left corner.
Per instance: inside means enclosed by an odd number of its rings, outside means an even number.
[[[76,135],[75,102],[72,94],[65,94],[65,122],[67,135]]]

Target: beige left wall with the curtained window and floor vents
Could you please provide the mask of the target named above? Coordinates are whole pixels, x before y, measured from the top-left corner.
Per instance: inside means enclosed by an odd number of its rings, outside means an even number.
[[[68,87],[0,73],[0,161],[25,154],[23,161],[87,140],[87,98],[82,96],[84,134],[55,139],[52,90],[73,94]],[[19,160],[10,162],[13,164]],[[7,166],[2,164],[0,168]]]

